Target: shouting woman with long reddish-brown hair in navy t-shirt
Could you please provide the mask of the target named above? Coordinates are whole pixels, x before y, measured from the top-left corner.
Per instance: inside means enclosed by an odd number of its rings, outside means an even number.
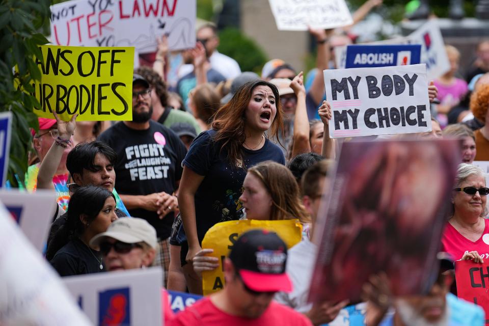
[[[275,85],[263,80],[244,84],[183,160],[178,203],[187,241],[181,243],[181,263],[193,293],[199,293],[201,284],[191,262],[202,249],[205,233],[216,223],[241,218],[238,198],[246,169],[265,160],[285,164],[282,150],[265,137],[265,131],[277,137],[282,128],[278,101]]]

